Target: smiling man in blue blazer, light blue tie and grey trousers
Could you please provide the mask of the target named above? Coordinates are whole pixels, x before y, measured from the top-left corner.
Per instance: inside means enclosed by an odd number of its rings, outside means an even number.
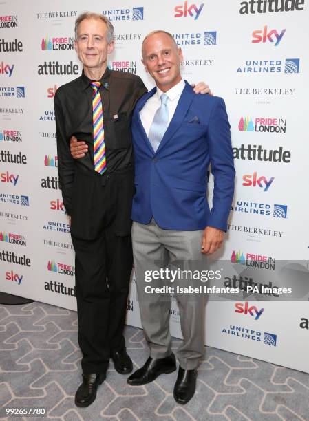
[[[193,261],[203,262],[220,248],[233,200],[235,170],[224,100],[196,95],[182,80],[182,60],[168,32],[151,32],[142,43],[142,62],[156,87],[138,100],[132,118],[132,241],[150,356],[129,376],[129,385],[143,385],[176,369],[169,294],[162,289],[160,294],[146,294],[145,273],[175,261],[181,261],[183,269],[194,268]],[[206,199],[209,164],[215,177],[211,209]],[[164,277],[156,279],[156,286],[167,285],[171,284]],[[184,340],[177,350],[180,368],[174,398],[186,404],[195,392],[196,369],[204,354],[204,296],[175,292],[175,298]]]

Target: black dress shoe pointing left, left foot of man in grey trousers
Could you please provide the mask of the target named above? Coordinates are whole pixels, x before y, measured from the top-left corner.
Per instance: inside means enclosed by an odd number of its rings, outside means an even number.
[[[153,382],[160,374],[173,373],[176,369],[175,355],[171,354],[165,358],[149,357],[146,363],[127,378],[131,386],[146,385]]]

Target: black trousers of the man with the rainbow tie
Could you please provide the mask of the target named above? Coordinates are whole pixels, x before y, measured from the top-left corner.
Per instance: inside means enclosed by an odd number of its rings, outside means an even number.
[[[133,185],[128,175],[114,180],[111,177],[106,184],[96,182],[92,197],[96,204],[96,210],[92,206],[94,215],[87,217],[85,213],[77,219],[72,213],[78,343],[83,354],[83,373],[105,372],[112,352],[125,347],[122,333],[133,264],[129,230]],[[82,189],[83,183],[80,186]],[[96,222],[94,239],[78,235],[76,225],[89,224],[89,220]]]

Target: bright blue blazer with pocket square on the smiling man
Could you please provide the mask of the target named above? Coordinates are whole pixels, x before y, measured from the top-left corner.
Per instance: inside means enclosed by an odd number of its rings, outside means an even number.
[[[234,162],[224,100],[197,95],[187,83],[156,153],[140,110],[156,87],[138,100],[132,118],[136,193],[132,219],[153,217],[166,230],[227,230],[234,193]],[[206,199],[208,169],[215,177],[213,206]]]

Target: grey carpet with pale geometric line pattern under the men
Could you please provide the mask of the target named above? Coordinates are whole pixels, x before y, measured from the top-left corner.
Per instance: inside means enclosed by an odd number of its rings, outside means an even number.
[[[173,400],[177,372],[130,387],[114,371],[90,407],[74,405],[81,382],[76,313],[43,303],[0,306],[0,419],[6,407],[45,407],[51,420],[189,421],[309,420],[309,375],[253,358],[207,348],[195,397]],[[127,349],[140,367],[148,350],[142,331],[126,327]],[[174,346],[177,346],[175,340]]]

